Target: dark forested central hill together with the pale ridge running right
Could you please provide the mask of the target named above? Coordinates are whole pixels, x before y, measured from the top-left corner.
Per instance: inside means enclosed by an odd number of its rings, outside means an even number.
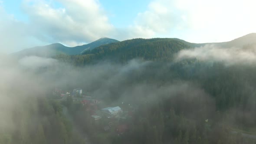
[[[222,47],[243,47],[255,42],[256,33],[223,43],[189,43],[177,38],[139,38],[98,46],[95,49],[82,52],[80,56],[67,56],[66,58],[65,56],[57,56],[56,58],[75,63],[75,65],[84,65],[105,59],[121,63],[135,58],[169,61],[174,58],[175,53],[182,49],[190,49],[206,44],[215,44]]]

